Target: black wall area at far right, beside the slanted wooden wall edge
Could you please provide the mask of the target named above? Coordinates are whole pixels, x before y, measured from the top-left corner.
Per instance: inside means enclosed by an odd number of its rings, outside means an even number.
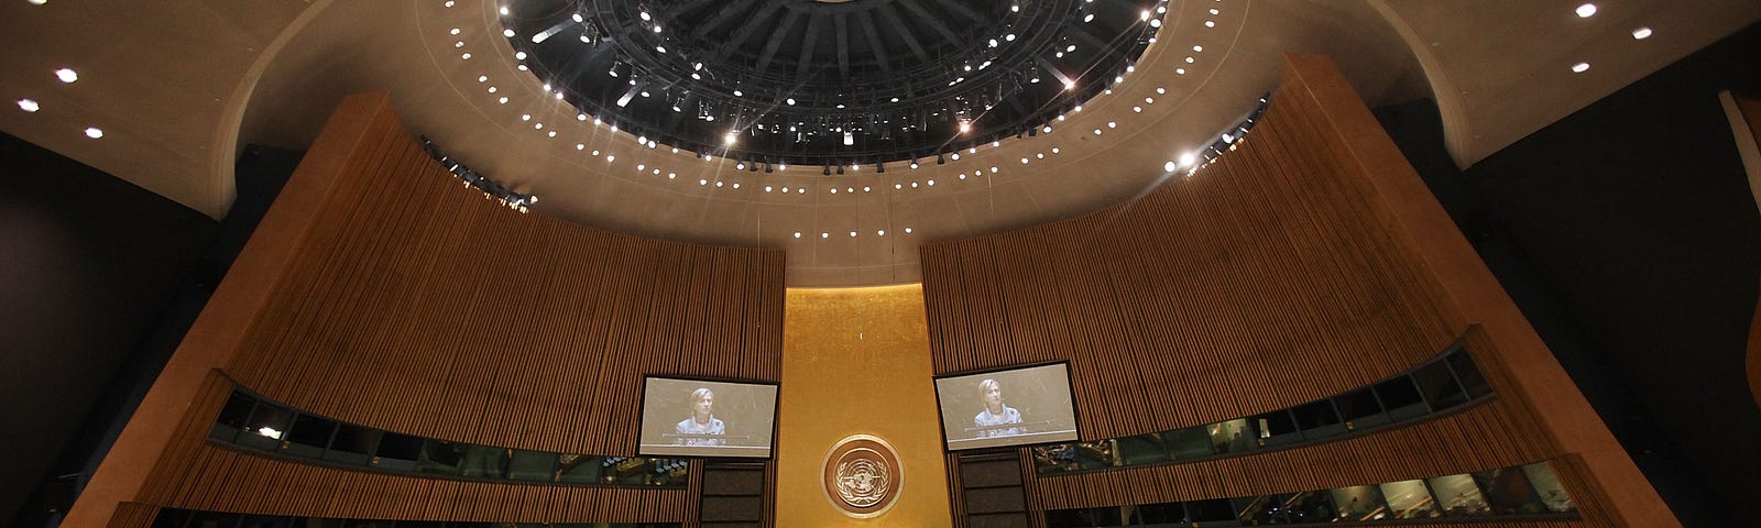
[[[1689,526],[1761,526],[1743,378],[1761,216],[1717,93],[1761,93],[1761,26],[1456,171],[1428,100],[1389,136]]]

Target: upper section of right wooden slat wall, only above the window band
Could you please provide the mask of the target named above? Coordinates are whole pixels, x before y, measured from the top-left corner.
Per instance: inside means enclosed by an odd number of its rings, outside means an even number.
[[[1312,401],[1435,356],[1462,331],[1435,278],[1296,104],[1275,97],[1238,151],[1132,202],[926,245],[937,373],[1069,359],[1083,436],[1109,438]]]

